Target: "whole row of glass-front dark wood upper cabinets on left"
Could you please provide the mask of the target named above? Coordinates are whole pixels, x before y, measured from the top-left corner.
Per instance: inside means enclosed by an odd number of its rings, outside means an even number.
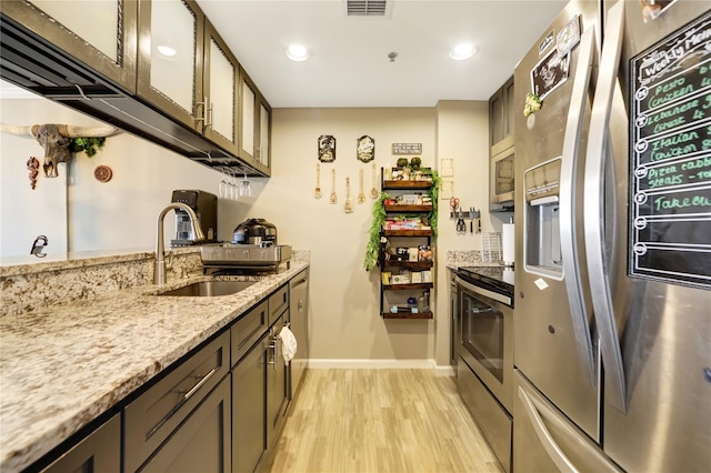
[[[63,4],[0,1],[4,80],[210,168],[270,175],[271,108],[194,0]]]

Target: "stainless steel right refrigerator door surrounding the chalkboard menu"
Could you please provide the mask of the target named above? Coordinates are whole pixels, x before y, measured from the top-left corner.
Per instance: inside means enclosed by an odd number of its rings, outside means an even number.
[[[687,36],[682,31],[680,38],[705,41],[703,50],[709,51],[710,9],[708,1],[678,0],[655,20],[644,22],[639,7],[627,2],[620,82],[629,83],[628,69],[638,53],[690,22],[700,24],[697,21],[702,17],[701,24],[705,27],[701,28],[705,33],[697,30],[697,34]],[[612,14],[609,10],[607,23],[610,26],[613,24]],[[611,34],[605,34],[605,46]],[[709,63],[711,54],[694,57],[693,62],[685,63],[689,69]],[[704,82],[700,80],[699,83]],[[701,93],[708,98],[711,97],[711,82],[705,83],[705,92]],[[612,308],[609,316],[612,320],[600,321],[600,324],[610,324],[612,330],[601,329],[600,336],[605,338],[601,340],[603,348],[617,348],[603,352],[603,449],[627,471],[708,471],[711,465],[711,291],[628,275],[628,213],[633,207],[628,204],[629,170],[630,160],[637,158],[631,150],[633,147],[629,147],[628,157],[624,138],[612,134],[625,128],[624,103],[619,95],[621,93],[613,94],[611,134],[604,140],[611,144],[614,155],[608,158],[612,165],[605,170],[604,188],[614,189],[615,195],[604,199],[603,253],[610,279]],[[669,105],[675,104],[670,102]],[[633,107],[629,105],[628,111]],[[711,113],[702,108],[699,110],[705,113],[701,120],[708,122]],[[685,124],[694,127],[689,122]],[[610,151],[602,148],[601,152]],[[704,154],[708,159],[708,149]],[[617,205],[612,203],[614,201]],[[708,244],[711,240],[707,240]],[[595,312],[598,315],[602,314]],[[614,370],[619,374],[612,378],[610,372]]]

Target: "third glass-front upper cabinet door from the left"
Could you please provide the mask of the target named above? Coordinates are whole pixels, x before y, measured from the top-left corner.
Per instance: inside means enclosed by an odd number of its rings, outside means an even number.
[[[237,133],[239,63],[212,24],[204,26],[204,135],[232,154],[239,154]]]

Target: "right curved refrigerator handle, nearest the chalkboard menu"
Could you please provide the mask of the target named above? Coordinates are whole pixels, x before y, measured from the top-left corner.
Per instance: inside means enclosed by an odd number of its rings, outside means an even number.
[[[612,308],[604,244],[604,170],[610,142],[608,128],[617,87],[624,27],[624,2],[617,2],[608,13],[605,41],[600,56],[600,73],[592,103],[583,193],[585,253],[595,324],[600,333],[600,351],[605,372],[607,400],[627,411],[624,366]]]

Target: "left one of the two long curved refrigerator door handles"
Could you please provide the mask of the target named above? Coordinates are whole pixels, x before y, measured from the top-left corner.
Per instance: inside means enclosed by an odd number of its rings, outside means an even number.
[[[582,122],[590,88],[590,76],[593,66],[594,30],[588,28],[580,40],[578,66],[575,67],[573,90],[563,138],[563,154],[560,170],[560,246],[563,260],[563,276],[568,301],[575,334],[575,346],[581,368],[588,372],[590,385],[597,386],[597,368],[593,356],[588,313],[585,310],[578,248],[575,245],[575,185],[578,174],[578,154]]]

